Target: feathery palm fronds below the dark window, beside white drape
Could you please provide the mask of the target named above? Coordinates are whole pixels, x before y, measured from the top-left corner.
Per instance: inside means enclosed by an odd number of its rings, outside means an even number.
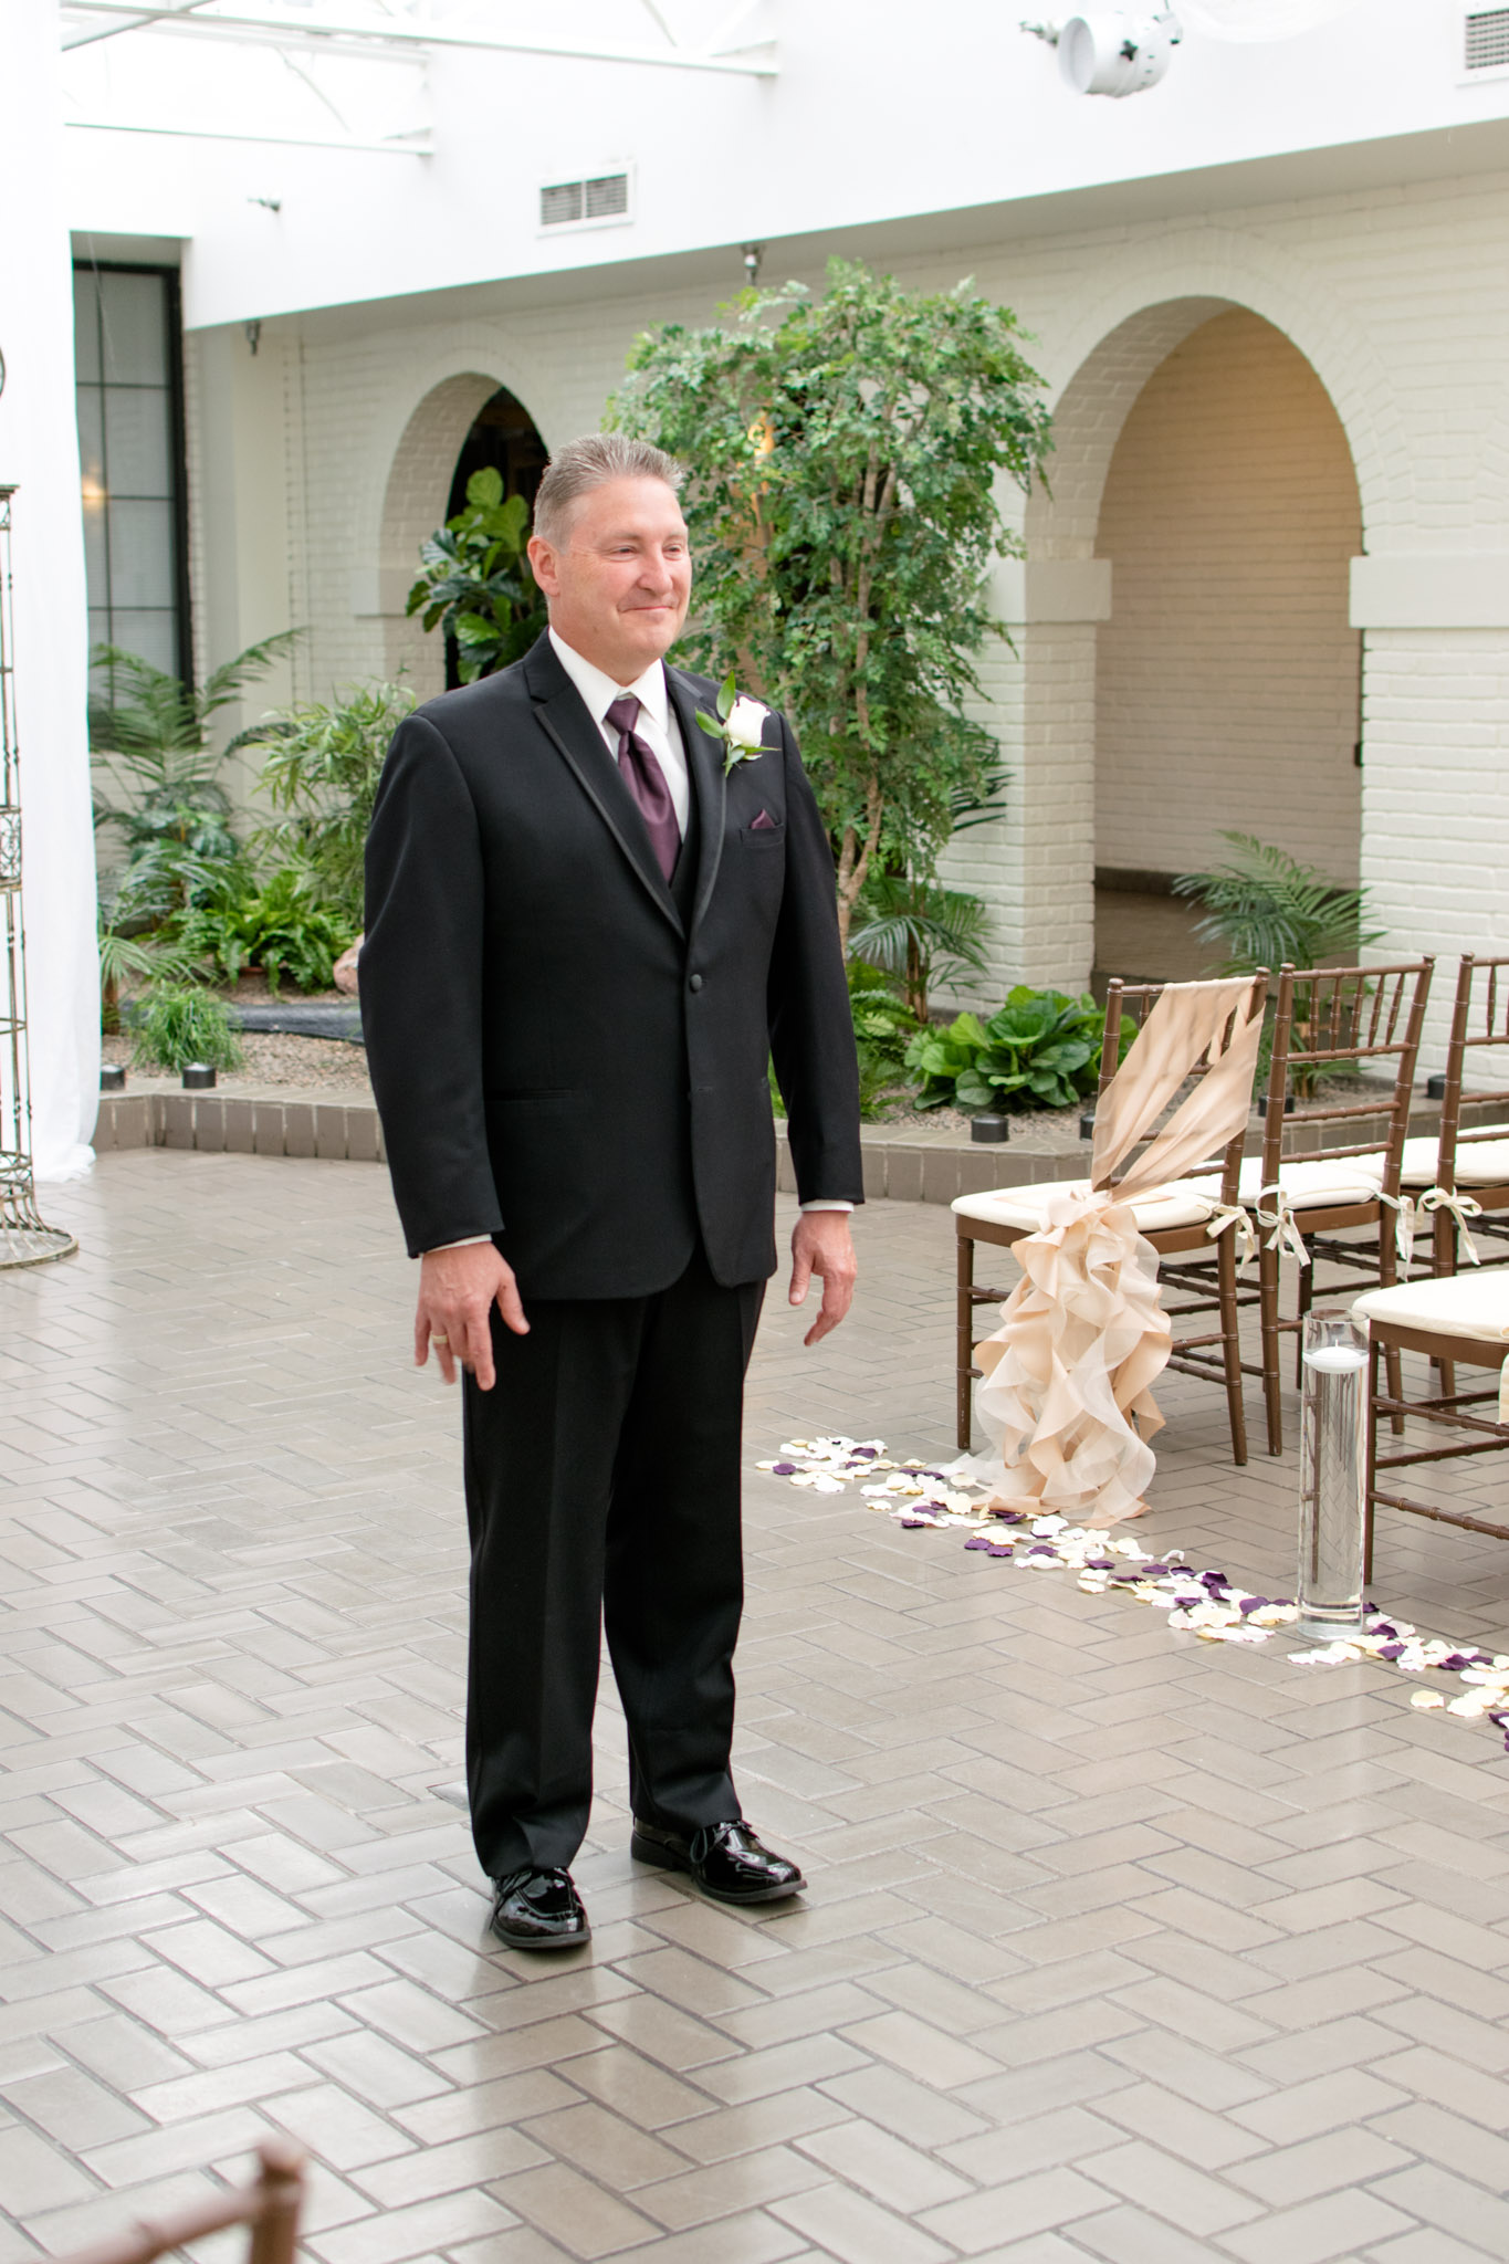
[[[100,772],[95,826],[124,844],[115,926],[163,919],[215,885],[240,858],[231,797],[219,783],[224,754],[208,743],[210,720],[247,684],[292,650],[296,632],[249,645],[201,686],[181,684],[120,645],[95,645],[93,668],[106,688],[88,704],[88,743]],[[111,790],[124,799],[111,801]]]

